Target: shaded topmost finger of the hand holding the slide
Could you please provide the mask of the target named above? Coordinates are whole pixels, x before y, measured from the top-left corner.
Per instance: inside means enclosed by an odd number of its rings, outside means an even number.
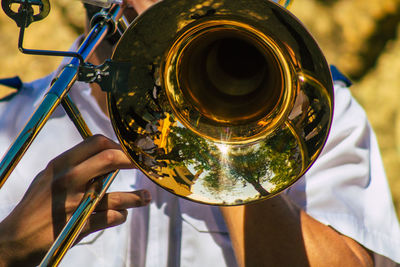
[[[121,149],[121,146],[105,136],[94,135],[56,157],[50,165],[55,170],[66,170],[107,149]]]

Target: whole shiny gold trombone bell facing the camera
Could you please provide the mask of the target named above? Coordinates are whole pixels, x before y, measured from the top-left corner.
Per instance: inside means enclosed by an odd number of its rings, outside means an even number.
[[[327,138],[329,67],[302,24],[272,2],[162,1],[125,31],[113,60],[131,64],[108,89],[124,150],[189,200],[274,196]]]

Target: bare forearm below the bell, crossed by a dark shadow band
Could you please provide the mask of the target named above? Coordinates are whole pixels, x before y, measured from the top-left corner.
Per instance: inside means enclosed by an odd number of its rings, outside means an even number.
[[[364,247],[283,195],[221,211],[239,266],[373,266]]]

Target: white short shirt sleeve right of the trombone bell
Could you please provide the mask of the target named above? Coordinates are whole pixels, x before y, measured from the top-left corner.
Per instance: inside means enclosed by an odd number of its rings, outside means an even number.
[[[332,128],[320,157],[287,194],[318,221],[400,262],[400,227],[377,140],[345,84],[335,83]]]

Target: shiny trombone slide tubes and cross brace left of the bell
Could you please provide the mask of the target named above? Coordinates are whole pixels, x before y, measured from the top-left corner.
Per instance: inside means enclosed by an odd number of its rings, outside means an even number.
[[[109,33],[110,30],[115,30],[115,25],[113,24],[116,24],[120,15],[121,8],[119,6],[114,6],[110,9],[109,14],[107,14],[108,21],[99,21],[92,27],[77,51],[85,61],[107,33]],[[110,22],[113,24],[110,24]],[[27,122],[24,129],[5,154],[0,165],[0,187],[6,182],[11,172],[17,166],[24,153],[60,103],[62,103],[65,111],[81,136],[85,139],[92,135],[90,129],[81,117],[79,110],[68,96],[69,89],[77,79],[79,65],[79,59],[74,58],[63,69],[43,98],[39,107],[33,113],[31,119]],[[65,253],[81,233],[87,219],[95,209],[97,203],[104,196],[117,174],[118,170],[94,179],[94,182],[89,186],[78,208],[53,243],[40,266],[57,266],[60,263]]]

